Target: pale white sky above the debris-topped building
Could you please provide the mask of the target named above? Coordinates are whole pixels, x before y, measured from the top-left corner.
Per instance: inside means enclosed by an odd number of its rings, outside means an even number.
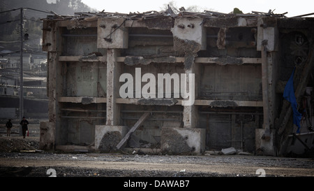
[[[82,0],[91,8],[96,8],[106,12],[145,12],[149,10],[161,10],[164,4],[171,0]],[[274,13],[285,13],[287,17],[314,13],[313,0],[174,0],[178,8],[184,6],[198,6],[201,10],[214,10],[221,13],[230,13],[233,8],[239,8],[243,13],[252,13],[253,11],[268,12],[269,9]],[[314,17],[314,15],[312,15]]]

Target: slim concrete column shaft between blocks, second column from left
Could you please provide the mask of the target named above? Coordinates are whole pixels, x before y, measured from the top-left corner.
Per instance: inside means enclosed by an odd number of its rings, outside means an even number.
[[[106,125],[119,125],[120,106],[116,103],[119,95],[120,64],[117,62],[119,50],[107,50],[107,122]]]

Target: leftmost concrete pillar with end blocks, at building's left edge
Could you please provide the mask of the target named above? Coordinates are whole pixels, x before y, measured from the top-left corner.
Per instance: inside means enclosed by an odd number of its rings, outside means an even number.
[[[44,22],[43,36],[45,41],[43,42],[43,50],[47,51],[47,97],[48,100],[48,122],[40,123],[40,137],[49,136],[50,139],[46,142],[44,139],[40,140],[40,146],[47,149],[54,149],[55,145],[62,142],[66,129],[60,126],[59,115],[59,97],[62,97],[63,93],[63,78],[57,78],[62,75],[62,64],[59,62],[59,55],[62,52],[62,39],[57,38],[63,33],[61,27],[57,27],[56,22]],[[67,141],[66,139],[63,141]]]

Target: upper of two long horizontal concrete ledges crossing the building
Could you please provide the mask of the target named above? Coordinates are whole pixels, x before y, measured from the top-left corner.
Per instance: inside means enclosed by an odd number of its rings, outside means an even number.
[[[124,62],[126,57],[117,57],[117,62]],[[184,57],[175,57],[176,63],[184,63]],[[107,57],[96,56],[60,56],[59,62],[107,62]],[[195,57],[195,63],[208,64],[261,64],[258,57]]]

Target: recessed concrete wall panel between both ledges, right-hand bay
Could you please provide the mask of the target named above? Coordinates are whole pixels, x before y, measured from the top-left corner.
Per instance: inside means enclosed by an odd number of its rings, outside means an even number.
[[[215,100],[262,100],[261,66],[202,65],[200,97]]]

